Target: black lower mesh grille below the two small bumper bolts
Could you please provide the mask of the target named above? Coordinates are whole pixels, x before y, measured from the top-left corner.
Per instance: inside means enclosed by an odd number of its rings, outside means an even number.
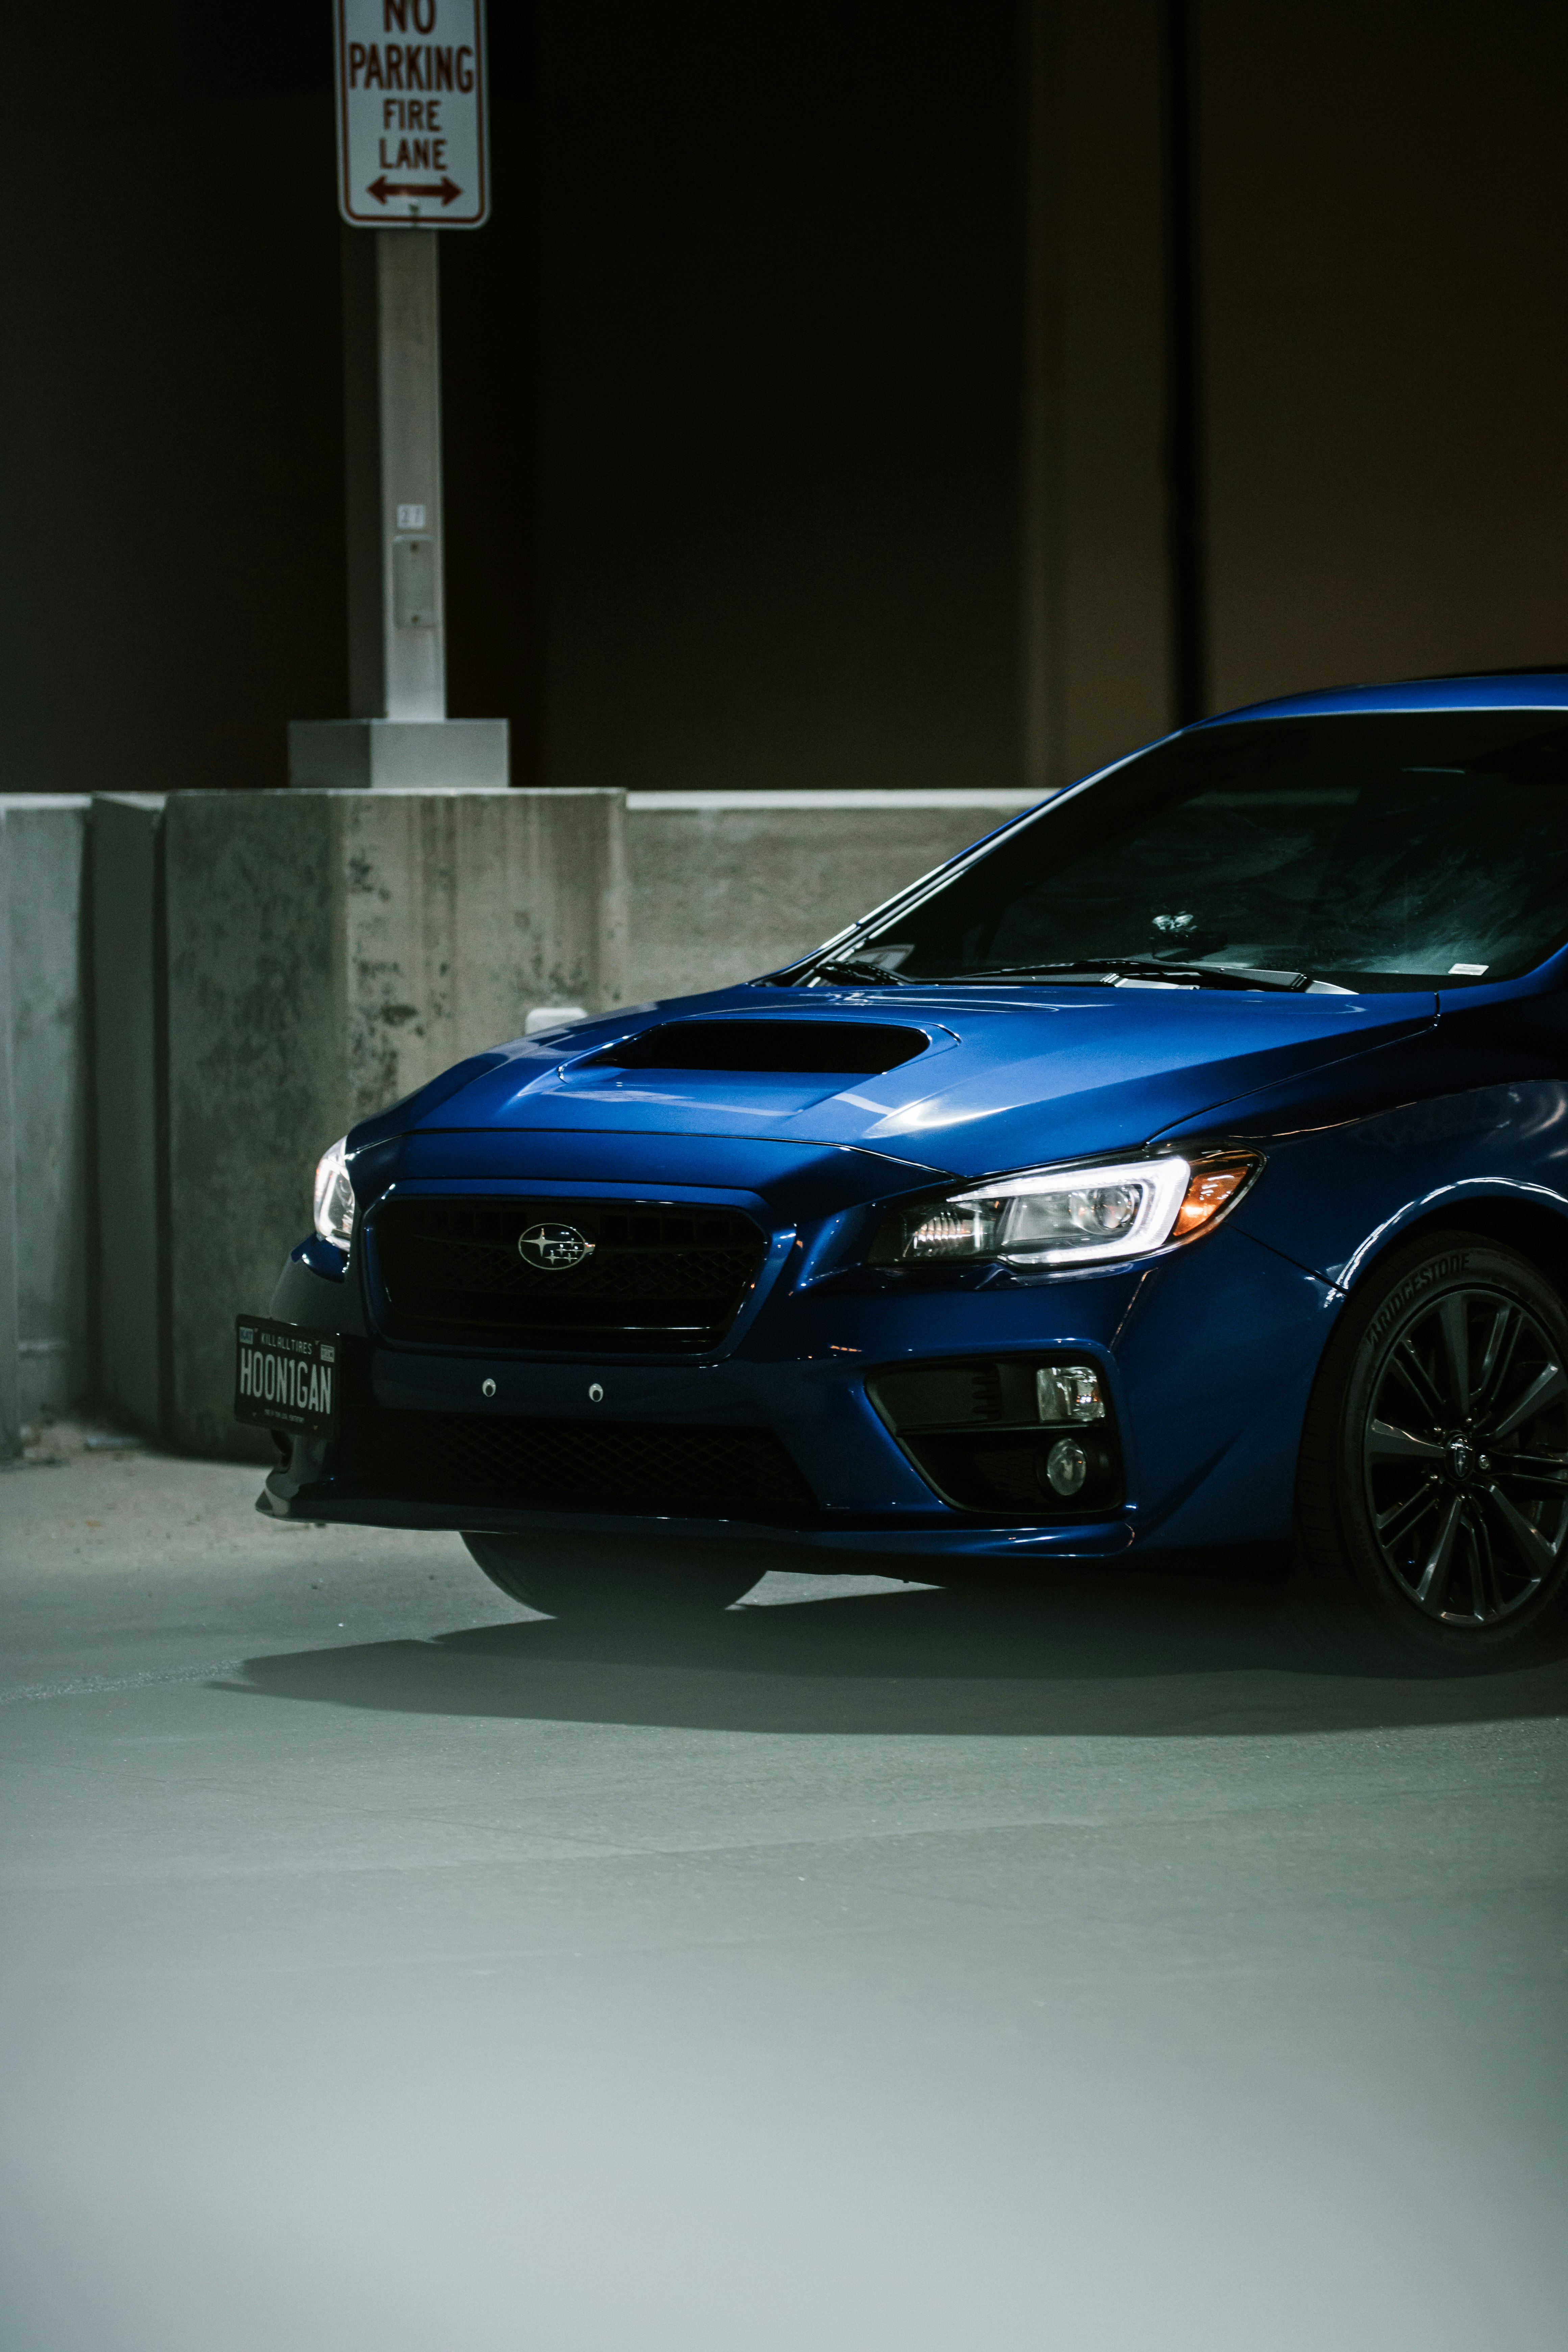
[[[510,1510],[806,1526],[816,1496],[773,1430],[510,1414],[350,1414],[343,1477],[367,1496]]]

